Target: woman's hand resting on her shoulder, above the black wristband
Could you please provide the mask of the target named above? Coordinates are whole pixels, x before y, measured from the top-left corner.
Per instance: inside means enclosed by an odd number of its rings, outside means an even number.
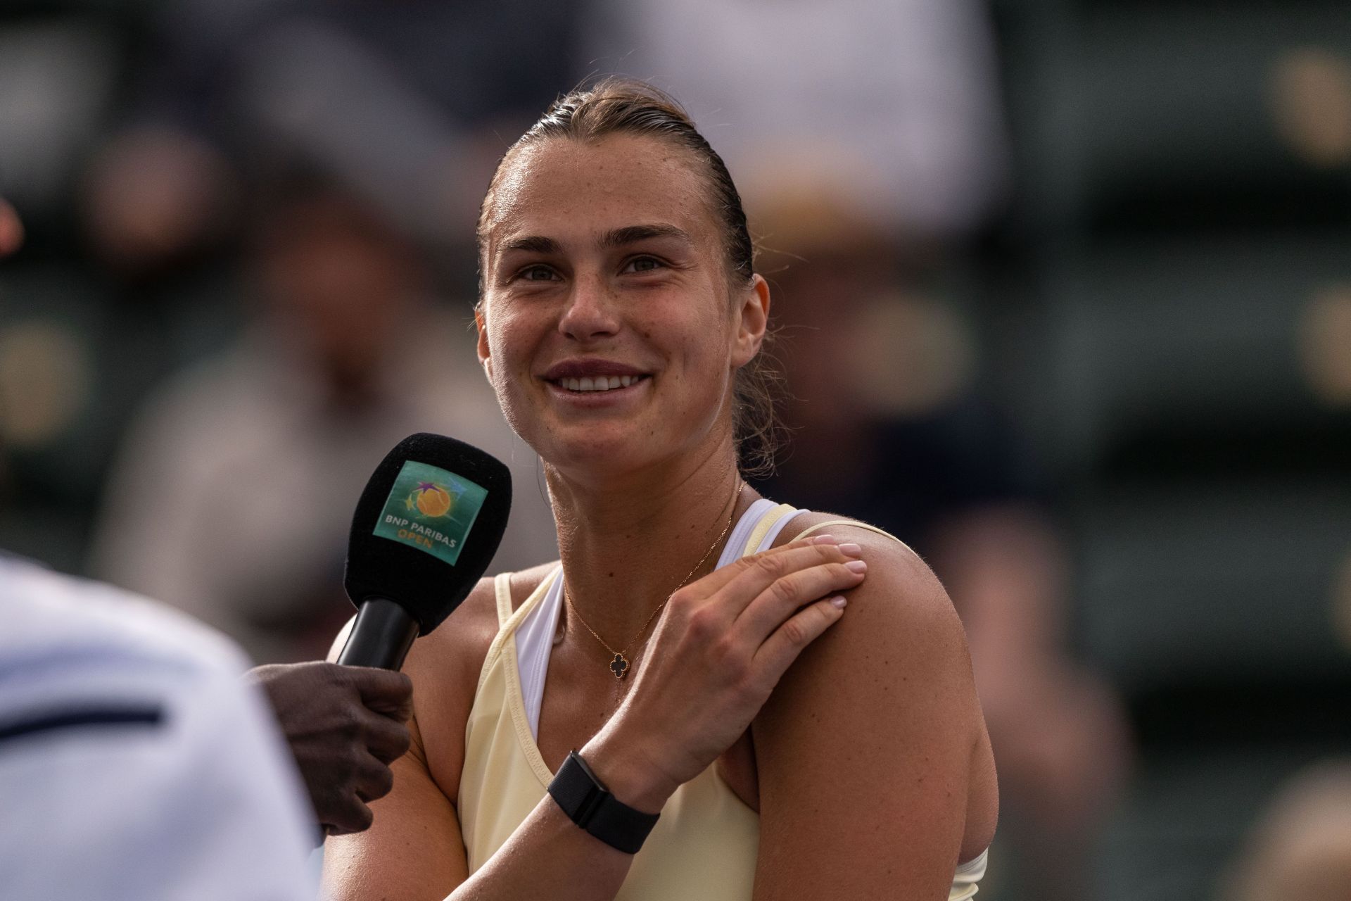
[[[740,738],[780,677],[844,613],[858,544],[804,539],[715,570],[674,594],[643,666],[582,756],[620,801],[657,812]]]

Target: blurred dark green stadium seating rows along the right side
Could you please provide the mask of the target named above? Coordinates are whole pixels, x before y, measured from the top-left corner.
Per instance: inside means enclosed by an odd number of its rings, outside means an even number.
[[[994,305],[1139,771],[1104,898],[1210,898],[1351,725],[1351,18],[996,4],[1019,196]],[[1019,324],[1019,319],[1034,323]],[[998,340],[998,336],[996,336]]]

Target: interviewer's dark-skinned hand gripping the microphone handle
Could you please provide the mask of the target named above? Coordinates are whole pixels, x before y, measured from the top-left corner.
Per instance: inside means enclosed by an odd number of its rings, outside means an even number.
[[[245,678],[272,701],[324,832],[369,828],[366,802],[389,793],[389,765],[409,746],[412,681],[392,670],[324,662],[259,666]]]

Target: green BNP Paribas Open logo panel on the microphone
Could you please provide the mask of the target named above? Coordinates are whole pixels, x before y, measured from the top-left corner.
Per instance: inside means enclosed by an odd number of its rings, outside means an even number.
[[[488,490],[430,463],[404,461],[374,534],[454,566]]]

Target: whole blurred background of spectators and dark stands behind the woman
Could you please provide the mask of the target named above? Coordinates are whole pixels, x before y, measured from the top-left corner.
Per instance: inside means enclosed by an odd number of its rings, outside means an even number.
[[[494,569],[553,554],[473,222],[609,72],[744,195],[792,394],[758,486],[966,621],[981,897],[1351,898],[1344,3],[7,0],[0,547],[312,658],[430,430],[515,470]]]

